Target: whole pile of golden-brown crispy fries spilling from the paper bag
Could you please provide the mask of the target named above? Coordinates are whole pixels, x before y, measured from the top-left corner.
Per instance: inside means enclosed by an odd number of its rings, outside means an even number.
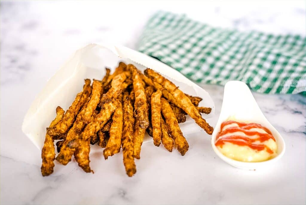
[[[174,83],[147,68],[142,74],[132,65],[119,63],[113,74],[106,68],[100,80],[85,79],[83,91],[66,112],[58,106],[56,117],[47,128],[42,150],[41,172],[53,172],[54,159],[66,165],[72,155],[85,172],[89,166],[90,144],[97,144],[107,159],[123,151],[123,163],[128,176],[136,173],[134,158],[140,159],[145,132],[172,152],[174,145],[185,155],[189,145],[178,123],[186,121],[186,114],[208,134],[213,127],[200,113],[209,114],[211,108],[198,107],[200,97],[184,94]],[[58,155],[55,158],[54,141]]]

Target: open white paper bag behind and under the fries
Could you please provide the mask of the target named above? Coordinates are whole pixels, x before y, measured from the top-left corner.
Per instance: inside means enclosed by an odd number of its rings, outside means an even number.
[[[105,75],[105,67],[111,68],[113,72],[120,61],[126,64],[132,63],[141,71],[151,68],[161,73],[179,86],[184,93],[203,98],[199,106],[211,107],[212,109],[210,114],[202,114],[204,118],[210,118],[214,115],[215,105],[209,94],[168,65],[124,46],[89,44],[76,51],[50,78],[25,115],[22,131],[37,148],[42,149],[46,128],[56,116],[56,107],[61,106],[67,110],[76,94],[82,91],[84,79],[101,80]],[[189,116],[187,116],[186,122],[179,125],[185,136],[201,130]],[[144,142],[147,141],[152,141],[148,135],[144,138]],[[91,152],[95,152],[95,148]]]

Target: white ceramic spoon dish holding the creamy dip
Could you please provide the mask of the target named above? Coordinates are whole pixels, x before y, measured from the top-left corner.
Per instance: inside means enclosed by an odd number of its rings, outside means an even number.
[[[215,146],[215,140],[218,132],[220,131],[221,123],[225,122],[229,117],[234,117],[237,121],[253,122],[267,127],[276,140],[276,144],[278,146],[277,155],[274,158],[263,162],[242,162],[224,156]],[[225,84],[221,113],[215,130],[212,133],[211,145],[215,153],[223,161],[234,167],[248,170],[254,170],[274,163],[285,153],[285,142],[282,136],[271,125],[267,118],[265,118],[250,89],[241,81],[229,81]]]

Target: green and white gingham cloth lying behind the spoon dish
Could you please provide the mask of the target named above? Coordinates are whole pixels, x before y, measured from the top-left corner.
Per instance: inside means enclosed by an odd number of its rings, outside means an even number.
[[[159,11],[138,50],[197,83],[241,80],[260,93],[306,92],[306,38],[214,28]]]

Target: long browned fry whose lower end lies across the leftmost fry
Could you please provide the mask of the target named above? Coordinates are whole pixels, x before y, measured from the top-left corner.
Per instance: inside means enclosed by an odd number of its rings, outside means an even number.
[[[85,80],[85,85],[83,91],[76,95],[76,99],[73,101],[72,105],[65,112],[62,120],[52,128],[47,128],[47,133],[49,135],[59,135],[67,132],[68,128],[73,124],[76,115],[80,108],[87,101],[89,95],[91,94],[90,79]]]

